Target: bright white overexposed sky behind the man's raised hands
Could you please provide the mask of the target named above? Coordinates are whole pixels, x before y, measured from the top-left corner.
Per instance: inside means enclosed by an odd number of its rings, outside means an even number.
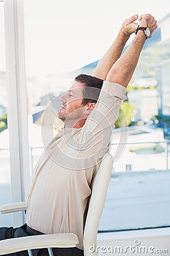
[[[0,71],[5,70],[3,3],[0,3]],[[100,59],[124,19],[170,13],[170,1],[24,0],[27,76],[71,71]]]

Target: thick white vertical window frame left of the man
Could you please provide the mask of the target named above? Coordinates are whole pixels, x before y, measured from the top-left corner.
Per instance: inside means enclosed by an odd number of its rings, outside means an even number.
[[[4,0],[7,113],[10,142],[12,203],[25,201],[30,183],[28,111],[25,82],[23,0]],[[10,19],[9,19],[10,17]],[[23,224],[23,213],[13,214],[13,225]]]

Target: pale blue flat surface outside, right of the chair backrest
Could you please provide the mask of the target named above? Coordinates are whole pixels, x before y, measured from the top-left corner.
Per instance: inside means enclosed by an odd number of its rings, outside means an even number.
[[[99,230],[169,226],[169,182],[168,170],[114,172]]]

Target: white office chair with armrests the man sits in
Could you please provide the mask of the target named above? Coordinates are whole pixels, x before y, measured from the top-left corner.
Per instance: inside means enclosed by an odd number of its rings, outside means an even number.
[[[88,203],[88,212],[83,235],[84,256],[97,255],[96,252],[91,253],[90,247],[94,244],[97,246],[97,230],[99,228],[99,221],[105,203],[109,180],[112,174],[112,167],[112,155],[105,154],[101,161],[99,170],[92,179],[92,192]],[[20,202],[3,205],[0,207],[0,212],[11,213],[25,209],[26,203]],[[32,249],[48,248],[49,255],[53,256],[53,247],[75,247],[78,243],[78,237],[72,233],[43,234],[40,236],[11,238],[0,241],[0,255],[27,250],[28,255],[32,256]]]

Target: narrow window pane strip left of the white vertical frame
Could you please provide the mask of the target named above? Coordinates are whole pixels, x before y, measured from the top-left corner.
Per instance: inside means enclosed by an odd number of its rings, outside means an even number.
[[[7,129],[7,89],[5,63],[5,27],[0,2],[0,205],[11,203],[10,151]],[[0,226],[12,225],[11,214],[0,214]]]

